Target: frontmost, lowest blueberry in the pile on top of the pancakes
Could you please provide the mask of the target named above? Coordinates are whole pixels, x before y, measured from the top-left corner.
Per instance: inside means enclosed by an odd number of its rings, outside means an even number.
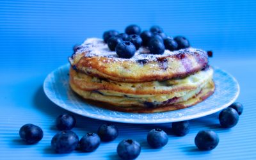
[[[136,47],[132,42],[124,41],[116,45],[116,54],[120,58],[132,58],[136,52]]]

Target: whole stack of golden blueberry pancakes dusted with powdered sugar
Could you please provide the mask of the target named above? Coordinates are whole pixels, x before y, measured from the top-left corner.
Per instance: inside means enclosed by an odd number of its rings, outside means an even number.
[[[150,54],[140,47],[119,58],[99,38],[87,39],[69,59],[70,87],[88,102],[132,113],[187,108],[214,92],[207,52],[189,47]]]

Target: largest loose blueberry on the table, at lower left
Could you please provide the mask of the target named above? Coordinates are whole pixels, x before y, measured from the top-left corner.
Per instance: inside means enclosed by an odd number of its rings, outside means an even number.
[[[58,154],[68,154],[77,148],[79,138],[72,131],[60,131],[52,138],[52,149]]]

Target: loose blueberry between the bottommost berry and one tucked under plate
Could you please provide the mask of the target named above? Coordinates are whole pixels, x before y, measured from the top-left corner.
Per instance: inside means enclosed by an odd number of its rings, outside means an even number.
[[[168,143],[168,136],[162,129],[152,129],[147,135],[148,145],[152,148],[161,148]]]

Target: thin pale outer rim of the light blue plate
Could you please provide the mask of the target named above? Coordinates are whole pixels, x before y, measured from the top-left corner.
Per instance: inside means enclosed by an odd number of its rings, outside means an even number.
[[[47,96],[47,98],[49,100],[51,100],[51,102],[53,102],[54,104],[56,104],[56,106],[59,106],[60,108],[63,108],[67,111],[70,111],[72,113],[76,113],[77,115],[81,115],[81,116],[86,116],[88,118],[93,118],[96,120],[104,120],[104,121],[109,121],[109,122],[119,122],[119,123],[125,123],[125,124],[166,124],[166,123],[172,123],[172,122],[180,122],[180,121],[184,121],[184,120],[193,120],[195,118],[201,118],[203,116],[207,116],[207,115],[211,115],[213,113],[216,113],[218,111],[220,111],[221,109],[227,108],[228,106],[230,106],[233,102],[236,101],[237,97],[239,96],[240,93],[240,86],[238,81],[236,80],[236,78],[234,76],[232,76],[231,74],[229,74],[228,72],[226,72],[225,70],[220,69],[219,67],[212,67],[214,68],[214,70],[221,70],[221,72],[225,72],[225,74],[227,74],[229,77],[232,78],[232,80],[234,82],[236,82],[236,86],[237,86],[237,92],[236,95],[233,97],[233,99],[230,99],[230,101],[226,104],[223,104],[223,106],[221,106],[220,108],[216,108],[216,109],[211,109],[210,111],[205,111],[202,114],[198,113],[196,115],[191,115],[191,116],[180,116],[179,118],[175,118],[175,120],[170,120],[170,118],[163,118],[163,119],[159,119],[159,120],[154,120],[154,121],[150,121],[150,120],[132,120],[132,119],[127,119],[127,118],[109,118],[106,116],[99,116],[99,115],[95,115],[93,113],[88,114],[88,115],[84,115],[84,113],[79,113],[79,112],[75,112],[74,110],[70,109],[70,108],[65,108],[63,106],[61,106],[60,103],[58,103],[56,100],[51,99],[50,94],[48,92],[48,90],[46,89],[46,84],[47,84],[47,80],[49,79],[49,77],[54,74],[54,72],[58,72],[58,70],[60,70],[63,67],[67,67],[70,66],[69,63],[65,64],[65,65],[61,65],[60,67],[52,70],[52,72],[50,72],[49,74],[47,74],[47,76],[44,79],[44,84],[43,84],[43,88],[44,88],[44,93]],[[110,109],[108,109],[109,111],[112,111]],[[120,112],[120,111],[113,111],[113,112]],[[131,114],[143,114],[143,113],[131,113]],[[157,113],[145,113],[145,114],[157,114]],[[124,120],[125,119],[125,120]]]

